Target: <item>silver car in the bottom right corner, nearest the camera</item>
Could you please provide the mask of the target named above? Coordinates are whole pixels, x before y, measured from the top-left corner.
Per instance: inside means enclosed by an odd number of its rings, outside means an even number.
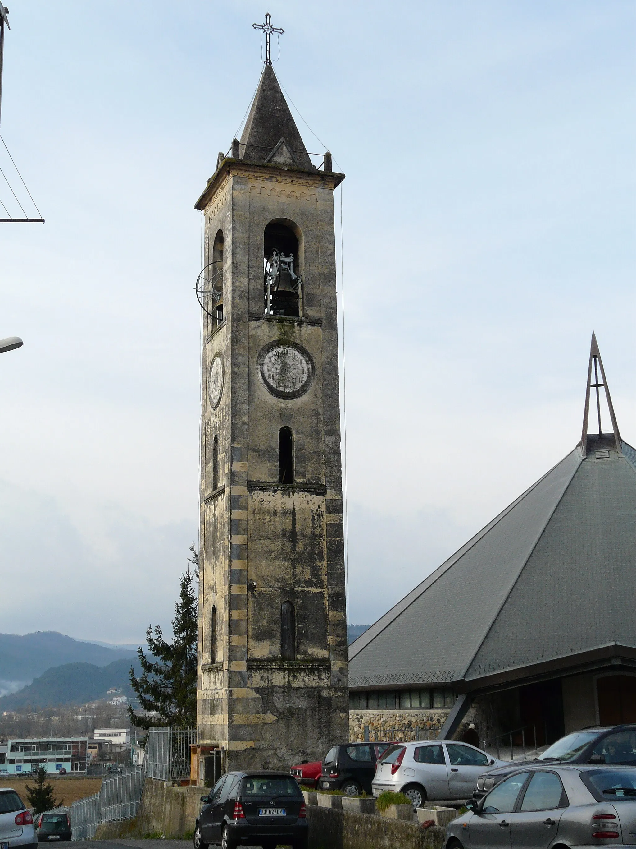
[[[524,766],[446,828],[446,849],[636,844],[636,767]]]

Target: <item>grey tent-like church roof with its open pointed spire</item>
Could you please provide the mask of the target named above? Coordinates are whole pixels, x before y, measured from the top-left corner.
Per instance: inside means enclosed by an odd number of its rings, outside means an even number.
[[[596,359],[603,382],[590,386]],[[599,387],[613,432],[588,436]],[[634,597],[636,452],[618,433],[593,336],[581,443],[351,644],[349,686],[476,685],[612,644],[636,649]]]

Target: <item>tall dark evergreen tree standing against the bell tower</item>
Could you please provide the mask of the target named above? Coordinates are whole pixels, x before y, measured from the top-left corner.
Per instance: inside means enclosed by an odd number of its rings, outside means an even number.
[[[194,558],[198,554],[193,550]],[[173,639],[168,643],[159,625],[148,626],[146,641],[153,660],[137,649],[142,667],[140,678],[131,666],[131,687],[146,711],[157,711],[159,717],[138,717],[128,706],[128,717],[138,728],[157,725],[193,726],[197,724],[197,638],[198,593],[194,575],[181,575],[181,593],[172,620]]]

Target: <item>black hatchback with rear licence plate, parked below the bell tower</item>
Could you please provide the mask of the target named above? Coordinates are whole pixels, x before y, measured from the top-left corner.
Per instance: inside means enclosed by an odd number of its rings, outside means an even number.
[[[275,849],[279,843],[307,847],[304,796],[289,773],[226,773],[201,801],[194,849],[206,849],[210,843],[220,843],[223,849],[242,844]]]

